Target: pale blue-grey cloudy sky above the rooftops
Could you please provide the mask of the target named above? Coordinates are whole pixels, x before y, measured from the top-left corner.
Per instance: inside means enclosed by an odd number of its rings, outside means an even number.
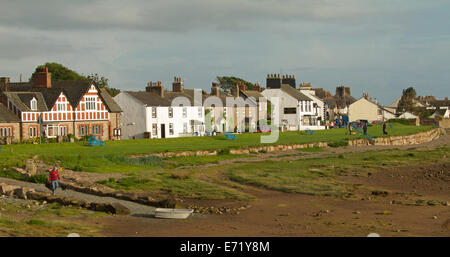
[[[265,87],[267,74],[384,105],[413,86],[450,95],[450,1],[3,0],[0,77],[57,62],[111,87],[210,91],[217,76]]]

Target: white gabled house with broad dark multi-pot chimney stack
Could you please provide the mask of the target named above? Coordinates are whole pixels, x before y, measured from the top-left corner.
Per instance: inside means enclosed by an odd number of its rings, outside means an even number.
[[[272,97],[278,98],[279,126],[282,131],[325,128],[318,119],[323,109],[314,105],[310,97],[296,89],[295,76],[269,75],[262,95],[269,101]]]

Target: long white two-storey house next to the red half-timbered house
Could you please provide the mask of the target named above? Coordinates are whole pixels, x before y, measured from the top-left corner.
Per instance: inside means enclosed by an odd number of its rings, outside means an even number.
[[[196,92],[197,91],[197,92]],[[150,82],[146,91],[121,92],[114,100],[123,108],[122,138],[173,138],[205,134],[205,109],[201,90],[184,89],[174,78],[172,91],[161,82]]]

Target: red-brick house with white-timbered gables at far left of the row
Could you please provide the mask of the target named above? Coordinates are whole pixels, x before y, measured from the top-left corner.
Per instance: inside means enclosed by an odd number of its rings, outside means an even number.
[[[74,135],[120,139],[122,110],[92,81],[51,81],[47,68],[38,68],[30,82],[0,78],[0,102],[19,118],[20,140]]]

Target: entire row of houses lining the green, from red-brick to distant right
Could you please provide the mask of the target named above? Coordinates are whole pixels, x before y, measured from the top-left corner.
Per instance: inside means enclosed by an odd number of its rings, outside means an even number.
[[[277,102],[276,105],[272,105]],[[29,82],[0,78],[0,140],[22,141],[39,136],[76,138],[94,135],[102,140],[205,136],[211,133],[325,129],[344,116],[349,121],[386,121],[415,118],[398,113],[399,99],[382,106],[350,88],[336,87],[335,95],[295,75],[269,74],[266,88],[236,84],[230,92],[213,82],[210,92],[186,89],[174,77],[171,90],[162,82],[149,82],[142,91],[123,91],[112,98],[89,80],[52,81],[45,67],[37,68]],[[449,101],[418,98],[416,104],[449,116]],[[277,107],[273,109],[272,107]],[[1,142],[0,142],[1,143]]]

